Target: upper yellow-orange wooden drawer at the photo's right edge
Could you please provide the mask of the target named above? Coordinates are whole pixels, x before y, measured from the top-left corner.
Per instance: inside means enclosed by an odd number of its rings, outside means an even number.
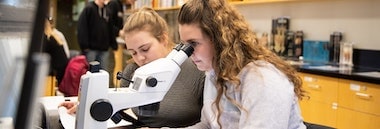
[[[339,80],[339,107],[380,116],[380,85]]]

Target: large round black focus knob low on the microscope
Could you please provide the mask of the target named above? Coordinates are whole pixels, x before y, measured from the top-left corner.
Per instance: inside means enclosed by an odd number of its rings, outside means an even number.
[[[106,99],[98,99],[92,103],[90,108],[91,117],[97,121],[108,120],[113,113],[111,103]]]

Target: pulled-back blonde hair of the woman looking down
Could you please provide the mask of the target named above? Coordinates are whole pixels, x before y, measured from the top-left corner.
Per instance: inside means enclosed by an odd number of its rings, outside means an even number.
[[[166,21],[152,8],[143,7],[127,18],[123,36],[136,31],[147,31],[158,41],[168,40],[170,49],[175,45],[168,37],[169,29]]]

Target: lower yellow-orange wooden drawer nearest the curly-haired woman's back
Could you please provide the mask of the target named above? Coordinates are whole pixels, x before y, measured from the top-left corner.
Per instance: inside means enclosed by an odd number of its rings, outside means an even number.
[[[304,121],[336,128],[336,103],[323,103],[312,100],[301,100],[300,107]]]

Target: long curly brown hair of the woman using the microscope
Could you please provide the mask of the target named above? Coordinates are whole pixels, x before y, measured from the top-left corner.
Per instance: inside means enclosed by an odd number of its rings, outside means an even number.
[[[264,60],[282,71],[294,84],[294,92],[299,99],[305,96],[302,80],[296,70],[275,53],[259,44],[258,39],[243,16],[225,0],[189,0],[178,15],[179,24],[197,24],[207,35],[215,48],[213,68],[218,95],[214,104],[220,112],[222,94],[239,109],[246,111],[236,100],[227,96],[226,83],[235,89],[240,87],[239,72],[250,62]],[[260,64],[256,64],[260,66]],[[220,113],[218,113],[220,124]]]

